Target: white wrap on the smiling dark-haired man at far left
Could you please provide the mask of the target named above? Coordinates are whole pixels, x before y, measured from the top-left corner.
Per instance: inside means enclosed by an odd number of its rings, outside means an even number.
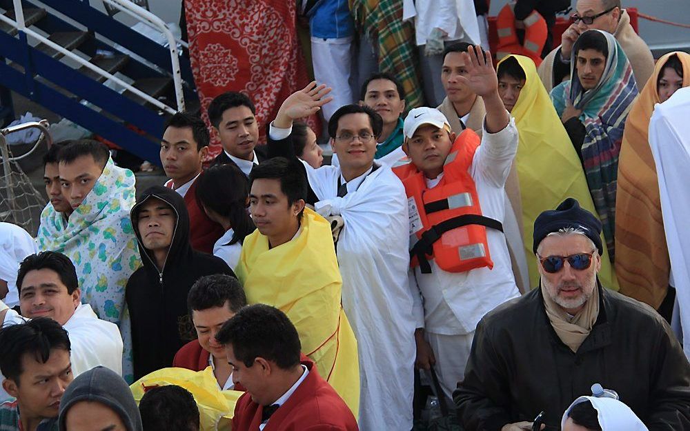
[[[0,302],[0,311],[5,307]],[[25,320],[14,310],[8,310],[3,325],[23,323]],[[75,377],[98,365],[122,375],[122,337],[115,323],[96,317],[91,305],[80,304],[63,328],[70,337],[70,360]],[[3,379],[5,377],[0,374],[0,381]],[[8,399],[4,391],[0,393],[1,399]]]

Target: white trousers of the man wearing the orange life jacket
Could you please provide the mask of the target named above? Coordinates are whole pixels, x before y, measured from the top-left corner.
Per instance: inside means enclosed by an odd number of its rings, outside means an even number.
[[[441,389],[446,398],[452,400],[457,382],[464,379],[475,332],[462,335],[442,335],[433,332],[424,332],[424,334],[436,357],[434,370]]]

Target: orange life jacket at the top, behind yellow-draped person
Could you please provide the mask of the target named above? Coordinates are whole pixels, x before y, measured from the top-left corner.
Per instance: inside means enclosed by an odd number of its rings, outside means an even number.
[[[539,67],[542,63],[542,50],[548,29],[544,17],[533,10],[522,20],[524,23],[524,42],[520,45],[520,39],[515,34],[515,13],[511,3],[506,4],[498,12],[496,17],[496,30],[498,32],[498,46],[496,47],[496,59],[508,57],[509,54],[520,54],[529,57]]]

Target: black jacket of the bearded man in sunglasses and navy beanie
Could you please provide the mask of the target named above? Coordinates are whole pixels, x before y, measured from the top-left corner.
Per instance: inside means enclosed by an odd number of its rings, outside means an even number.
[[[647,305],[600,290],[598,319],[577,353],[555,334],[540,289],[486,314],[464,381],[453,393],[466,431],[499,431],[545,412],[560,430],[591,385],[618,392],[650,431],[690,430],[690,364],[669,325]]]

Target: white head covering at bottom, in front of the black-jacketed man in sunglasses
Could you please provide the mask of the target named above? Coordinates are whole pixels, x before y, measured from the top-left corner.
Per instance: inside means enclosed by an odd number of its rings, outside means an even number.
[[[595,389],[595,386],[598,387]],[[597,383],[592,386],[595,397],[580,397],[573,401],[563,414],[561,429],[565,428],[570,410],[584,401],[589,401],[597,411],[599,425],[603,431],[649,431],[640,418],[624,403],[618,401],[618,394],[613,391],[604,391]],[[606,392],[606,393],[604,393]],[[612,397],[613,396],[613,397]]]

